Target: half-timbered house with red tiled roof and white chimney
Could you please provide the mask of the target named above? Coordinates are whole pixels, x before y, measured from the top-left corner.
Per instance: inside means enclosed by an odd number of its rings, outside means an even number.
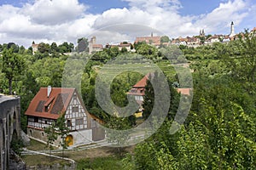
[[[96,118],[91,118],[86,111],[75,88],[40,88],[25,114],[27,134],[34,139],[47,141],[44,127],[49,127],[62,114],[65,114],[69,128],[69,145],[88,144],[93,140],[104,139],[105,136],[103,130],[91,126],[96,124]],[[58,143],[59,139],[55,141],[55,144]]]

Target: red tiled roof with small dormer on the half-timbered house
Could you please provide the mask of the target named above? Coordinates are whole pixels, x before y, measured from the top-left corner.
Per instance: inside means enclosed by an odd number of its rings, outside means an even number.
[[[49,97],[47,90],[48,88],[40,88],[28,106],[26,116],[57,119],[67,110],[75,88],[51,88]]]

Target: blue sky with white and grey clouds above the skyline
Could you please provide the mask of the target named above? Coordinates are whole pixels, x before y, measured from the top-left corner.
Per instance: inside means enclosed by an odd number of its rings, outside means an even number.
[[[1,0],[0,43],[132,41],[137,36],[229,34],[256,26],[254,0]],[[150,30],[152,29],[152,30]]]

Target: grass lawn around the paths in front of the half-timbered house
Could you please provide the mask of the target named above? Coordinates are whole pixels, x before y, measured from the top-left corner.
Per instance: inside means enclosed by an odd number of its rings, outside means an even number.
[[[45,144],[36,140],[31,140],[31,144],[27,147],[28,150],[47,150]],[[77,162],[77,169],[122,169],[121,160],[122,155],[129,152],[131,153],[134,146],[126,147],[121,155],[117,152],[116,148],[101,147],[87,150],[65,150],[64,157],[73,159]],[[62,153],[52,153],[55,156],[62,156]],[[21,156],[27,166],[37,165],[53,165],[53,164],[68,164],[69,161],[62,159],[43,156],[43,155],[26,155]]]

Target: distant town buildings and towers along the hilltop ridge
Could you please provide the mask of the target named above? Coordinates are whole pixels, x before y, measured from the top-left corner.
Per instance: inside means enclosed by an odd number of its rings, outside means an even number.
[[[250,32],[251,36],[256,35],[256,27],[254,27]],[[206,34],[204,29],[201,29],[199,31],[199,35],[193,36],[193,37],[177,37],[177,38],[169,38],[164,39],[160,36],[154,36],[154,32],[151,32],[151,35],[149,37],[136,37],[135,41],[132,42],[120,42],[119,44],[109,44],[107,43],[105,46],[104,44],[98,44],[96,43],[96,37],[91,37],[89,41],[89,54],[93,54],[97,51],[102,51],[103,48],[113,48],[118,47],[119,50],[122,48],[126,48],[127,51],[135,52],[135,49],[133,48],[134,44],[138,42],[145,42],[147,44],[153,45],[156,48],[160,48],[163,46],[168,45],[183,45],[187,47],[199,47],[201,45],[212,45],[214,42],[230,42],[234,41],[236,39],[239,39],[239,36],[242,36],[241,33],[235,32],[235,24],[232,21],[230,24],[230,33],[229,34]],[[166,37],[166,36],[165,36]],[[32,51],[33,54],[38,51],[38,45],[36,43],[32,43]]]

